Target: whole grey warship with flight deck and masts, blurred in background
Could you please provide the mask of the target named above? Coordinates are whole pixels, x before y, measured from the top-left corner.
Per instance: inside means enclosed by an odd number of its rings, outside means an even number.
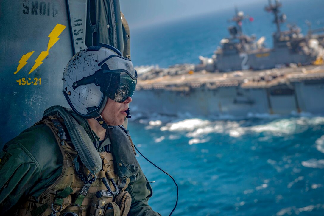
[[[240,23],[248,17],[236,11],[231,36],[221,40],[212,58],[200,56],[202,64],[137,68],[132,107],[143,113],[225,118],[324,114],[323,35],[309,31],[303,36],[297,26],[282,31],[286,16],[280,7],[270,0],[265,7],[277,27],[273,48],[264,46],[264,37],[244,35]]]

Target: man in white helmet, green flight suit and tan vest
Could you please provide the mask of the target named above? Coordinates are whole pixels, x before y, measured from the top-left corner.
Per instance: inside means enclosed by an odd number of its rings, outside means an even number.
[[[137,72],[106,44],[75,54],[63,75],[71,109],[52,106],[0,154],[2,215],[160,215],[128,131]]]

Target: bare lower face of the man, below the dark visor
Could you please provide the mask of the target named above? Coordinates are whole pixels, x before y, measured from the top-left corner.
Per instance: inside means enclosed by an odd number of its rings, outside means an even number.
[[[108,125],[121,125],[125,121],[126,110],[128,109],[129,103],[132,102],[132,98],[128,97],[126,101],[118,103],[110,98],[101,113],[102,118]]]

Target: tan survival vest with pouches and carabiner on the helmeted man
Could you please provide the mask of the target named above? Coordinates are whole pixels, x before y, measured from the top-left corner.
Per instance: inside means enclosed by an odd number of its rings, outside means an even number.
[[[78,152],[80,150],[76,150],[73,145],[70,137],[71,132],[70,134],[65,133],[67,130],[64,126],[64,119],[58,112],[49,116],[45,116],[45,114],[46,111],[43,119],[35,125],[46,124],[52,130],[63,155],[62,173],[55,183],[49,186],[38,198],[29,197],[17,209],[16,215],[126,216],[130,210],[132,198],[125,189],[134,176],[133,172],[125,166],[125,161],[121,159],[118,165],[114,166],[111,152],[98,152],[102,168],[96,173],[90,172],[79,157]],[[119,138],[117,131],[121,129],[124,134],[127,131],[119,126],[115,127],[117,130],[109,131],[111,144],[125,146],[125,143],[124,145],[118,143],[125,140]],[[117,136],[112,136],[113,132],[117,133]],[[124,134],[122,135],[124,136]],[[129,134],[127,133],[127,135]],[[75,134],[72,136],[75,136]],[[130,136],[128,138],[128,147],[133,150],[132,154],[133,152],[136,154]],[[116,152],[114,155],[117,155],[117,157],[125,155],[125,152],[120,152],[120,150],[116,150]],[[115,170],[115,167],[121,168]],[[130,168],[136,169],[136,164],[133,164]],[[136,180],[136,177],[134,180]]]

